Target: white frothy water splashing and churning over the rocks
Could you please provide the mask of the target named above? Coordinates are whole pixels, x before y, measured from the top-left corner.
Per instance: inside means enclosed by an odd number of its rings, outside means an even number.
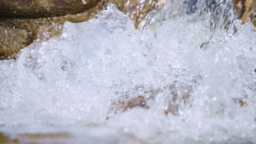
[[[167,0],[140,30],[114,5],[66,22],[61,36],[0,61],[0,131],[68,133],[55,143],[74,144],[256,144],[256,29],[236,19],[228,0]],[[122,110],[137,97],[146,108]]]

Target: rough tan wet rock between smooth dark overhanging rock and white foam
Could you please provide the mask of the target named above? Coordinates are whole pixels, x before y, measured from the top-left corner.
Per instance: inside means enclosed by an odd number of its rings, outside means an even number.
[[[0,60],[16,58],[20,49],[33,40],[47,40],[61,34],[65,21],[87,21],[100,12],[103,2],[79,14],[50,18],[1,18]],[[7,30],[7,31],[6,31]]]

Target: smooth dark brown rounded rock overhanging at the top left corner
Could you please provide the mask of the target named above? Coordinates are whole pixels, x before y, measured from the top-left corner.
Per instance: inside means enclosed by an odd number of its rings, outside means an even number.
[[[0,0],[0,16],[46,18],[80,13],[99,0]]]

